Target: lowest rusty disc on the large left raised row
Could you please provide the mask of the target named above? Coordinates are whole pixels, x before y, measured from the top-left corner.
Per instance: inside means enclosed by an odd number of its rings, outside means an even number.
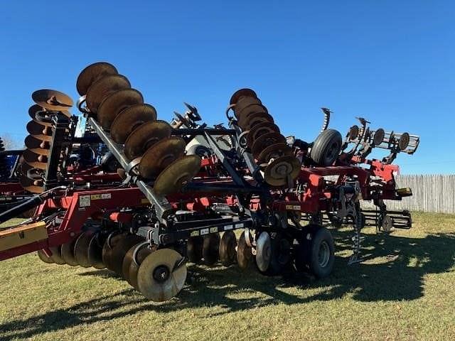
[[[200,171],[200,156],[186,155],[178,158],[158,175],[154,183],[157,195],[176,193]]]

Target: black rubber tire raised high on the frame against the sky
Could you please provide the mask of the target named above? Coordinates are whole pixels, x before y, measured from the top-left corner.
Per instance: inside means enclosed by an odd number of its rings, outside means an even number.
[[[310,156],[318,166],[331,166],[340,154],[342,143],[338,130],[326,129],[314,141]]]

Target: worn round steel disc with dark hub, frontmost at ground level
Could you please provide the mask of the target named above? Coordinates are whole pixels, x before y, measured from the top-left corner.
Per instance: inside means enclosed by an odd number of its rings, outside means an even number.
[[[139,291],[151,301],[168,301],[176,296],[186,280],[185,258],[173,249],[159,249],[139,266]]]

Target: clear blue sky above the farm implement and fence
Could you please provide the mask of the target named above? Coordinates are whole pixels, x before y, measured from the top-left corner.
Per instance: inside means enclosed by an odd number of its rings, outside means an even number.
[[[284,134],[312,141],[328,107],[343,135],[355,116],[419,134],[402,173],[455,173],[454,19],[454,1],[2,1],[0,136],[26,136],[31,92],[76,100],[109,61],[161,119],[186,101],[218,124],[252,87]]]

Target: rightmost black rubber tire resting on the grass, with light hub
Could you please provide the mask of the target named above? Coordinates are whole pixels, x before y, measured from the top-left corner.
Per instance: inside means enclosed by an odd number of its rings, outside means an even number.
[[[330,252],[328,256],[328,260],[320,264],[319,259],[319,250],[321,247],[328,247],[328,251]],[[314,276],[317,278],[326,278],[329,276],[333,270],[333,264],[335,263],[335,242],[333,242],[333,237],[330,231],[325,227],[320,227],[317,229],[311,238],[311,242],[309,243],[309,271],[311,271]]]

